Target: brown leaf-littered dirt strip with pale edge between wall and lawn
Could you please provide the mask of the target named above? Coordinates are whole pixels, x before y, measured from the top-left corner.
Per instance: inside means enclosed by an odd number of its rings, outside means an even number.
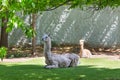
[[[92,58],[108,58],[108,59],[112,59],[112,60],[120,60],[120,49],[89,49],[92,54]],[[79,53],[80,51],[80,47],[79,45],[59,45],[57,47],[52,47],[52,52],[53,53]],[[11,58],[11,59],[4,59],[4,62],[23,62],[23,61],[27,61],[33,58],[37,58],[37,57],[43,57],[43,45],[42,46],[36,46],[36,55],[35,56],[31,56],[32,53],[32,47],[27,46],[27,47],[11,47],[9,48],[8,53],[10,55],[7,56],[7,58]],[[14,55],[13,56],[11,55]],[[29,55],[30,54],[30,55]],[[18,58],[19,57],[19,58]],[[22,58],[20,58],[22,57]]]

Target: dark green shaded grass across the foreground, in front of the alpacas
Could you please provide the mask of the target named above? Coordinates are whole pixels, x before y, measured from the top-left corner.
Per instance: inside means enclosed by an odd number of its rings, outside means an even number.
[[[42,65],[0,65],[0,80],[120,80],[120,68],[44,69]]]

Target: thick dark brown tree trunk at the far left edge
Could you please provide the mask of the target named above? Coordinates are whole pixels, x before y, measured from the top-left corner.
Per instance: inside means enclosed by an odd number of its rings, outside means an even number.
[[[2,18],[2,27],[1,27],[1,40],[0,47],[4,46],[8,48],[8,33],[6,32],[8,18]]]

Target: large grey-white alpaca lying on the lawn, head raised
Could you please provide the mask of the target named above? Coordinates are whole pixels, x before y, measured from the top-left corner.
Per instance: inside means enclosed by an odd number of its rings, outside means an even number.
[[[51,38],[45,34],[42,37],[44,41],[45,68],[75,67],[79,63],[79,56],[74,53],[53,54],[51,52]]]

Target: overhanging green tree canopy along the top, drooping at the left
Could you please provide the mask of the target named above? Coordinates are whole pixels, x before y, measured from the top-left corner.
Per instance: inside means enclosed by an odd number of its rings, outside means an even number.
[[[0,0],[0,18],[8,17],[7,32],[10,32],[14,27],[21,28],[23,32],[33,36],[34,30],[26,27],[23,19],[16,15],[17,12],[22,12],[24,15],[38,13],[41,11],[54,10],[62,5],[69,5],[70,8],[80,7],[84,9],[92,8],[99,10],[110,6],[112,8],[120,5],[119,0]],[[6,16],[7,12],[7,16]],[[30,29],[30,30],[29,30]],[[31,35],[31,33],[33,35]],[[30,34],[30,35],[29,35]]]

